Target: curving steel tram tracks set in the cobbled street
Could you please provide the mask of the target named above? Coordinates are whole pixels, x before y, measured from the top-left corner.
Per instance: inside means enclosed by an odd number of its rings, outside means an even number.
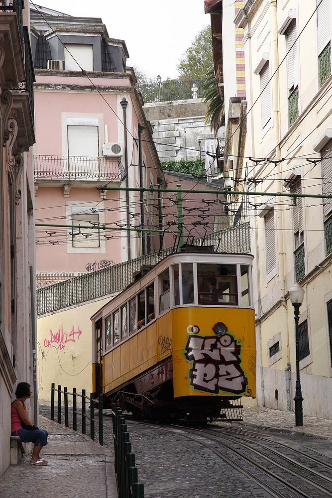
[[[163,426],[157,423],[151,423],[151,421],[132,421],[134,423],[142,423],[155,429],[157,428],[166,432],[178,434],[199,443],[217,455],[223,462],[232,467],[233,470],[236,470],[247,479],[250,479],[251,482],[255,483],[261,490],[266,492],[268,496],[275,498],[332,497],[332,479],[329,476],[317,472],[295,458],[284,455],[280,451],[262,443],[250,441],[244,436],[242,431],[239,432],[236,429],[220,427],[211,427],[209,429],[198,427],[188,428],[175,424]],[[317,457],[308,456],[308,454],[303,451],[290,448],[285,443],[272,441],[271,438],[264,437],[264,434],[251,433],[249,435],[285,447],[296,455],[299,454],[304,456],[307,460],[315,462],[315,464],[324,465],[329,470],[332,468],[330,464],[319,460]],[[222,449],[216,444],[220,445]],[[255,444],[256,448],[252,448],[252,444]],[[234,447],[235,445],[237,448]],[[269,455],[266,455],[261,449],[257,449],[257,446],[260,446],[265,452],[268,451]],[[244,451],[240,450],[240,448],[243,448]],[[275,458],[271,458],[271,454]],[[280,461],[278,462],[276,458],[283,460],[283,463],[280,463]],[[263,465],[260,463],[261,461],[266,462],[266,464]],[[267,465],[271,468],[268,469]],[[304,475],[304,473],[307,475]],[[286,479],[285,474],[288,476],[290,475],[290,479]],[[310,477],[308,477],[308,475]],[[294,484],[294,482],[298,482],[298,485]],[[277,489],[276,483],[278,483],[278,486],[281,489]],[[301,486],[299,486],[299,483],[301,483]],[[326,483],[326,486],[323,485],[323,483]]]

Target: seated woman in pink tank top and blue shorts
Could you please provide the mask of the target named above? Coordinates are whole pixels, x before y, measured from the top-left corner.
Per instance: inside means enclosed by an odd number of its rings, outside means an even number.
[[[29,430],[22,427],[22,422],[25,425],[33,426],[24,404],[24,401],[31,396],[31,393],[28,382],[19,382],[17,384],[16,399],[11,403],[11,436],[19,436],[23,443],[34,443],[30,464],[45,466],[47,465],[47,460],[40,458],[39,454],[42,447],[47,444],[47,432],[41,429]]]

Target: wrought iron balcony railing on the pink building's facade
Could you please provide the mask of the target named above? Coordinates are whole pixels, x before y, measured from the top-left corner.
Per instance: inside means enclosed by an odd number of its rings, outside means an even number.
[[[120,157],[35,155],[34,179],[122,181],[125,170]]]

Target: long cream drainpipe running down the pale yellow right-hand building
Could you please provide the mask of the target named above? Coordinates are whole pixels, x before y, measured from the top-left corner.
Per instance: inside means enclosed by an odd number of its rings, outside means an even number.
[[[271,3],[271,18],[272,18],[272,44],[271,44],[271,59],[272,59],[272,64],[271,64],[271,69],[272,73],[274,73],[279,65],[279,55],[278,55],[278,18],[277,18],[277,0],[270,0]],[[281,158],[281,153],[280,153],[280,102],[279,102],[279,71],[276,71],[272,78],[272,99],[273,99],[273,126],[275,130],[275,143],[277,144],[276,149],[275,149],[275,157],[276,159]],[[279,173],[279,178],[278,178],[278,186],[277,186],[277,191],[282,192],[283,190],[283,174],[282,174],[282,166],[281,162],[278,164],[278,173]],[[288,386],[288,376],[290,377],[290,370],[291,370],[291,365],[290,365],[290,351],[289,351],[289,327],[288,327],[288,316],[287,316],[287,302],[286,302],[286,284],[285,284],[285,244],[284,244],[284,226],[283,226],[283,215],[282,211],[279,211],[277,214],[277,237],[278,237],[278,248],[279,248],[279,274],[281,277],[281,288],[280,288],[280,293],[281,293],[281,303],[283,307],[285,308],[285,314],[286,314],[286,360],[287,360],[287,369],[289,366],[289,373],[288,370],[286,369],[286,391],[287,388],[289,388],[290,391],[290,385]],[[290,378],[289,378],[290,382]],[[291,409],[290,406],[290,396],[289,399],[287,397],[287,409]]]

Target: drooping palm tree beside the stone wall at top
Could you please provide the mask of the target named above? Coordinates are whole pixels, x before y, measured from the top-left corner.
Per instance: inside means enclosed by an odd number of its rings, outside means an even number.
[[[215,73],[212,69],[207,75],[206,82],[203,87],[204,102],[208,104],[205,122],[209,123],[211,130],[217,135],[218,129],[221,127],[222,117],[224,115],[224,105],[221,95],[218,93]]]

